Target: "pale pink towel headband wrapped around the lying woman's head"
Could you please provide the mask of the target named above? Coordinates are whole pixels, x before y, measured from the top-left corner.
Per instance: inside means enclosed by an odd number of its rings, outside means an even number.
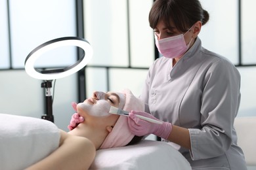
[[[144,104],[139,98],[135,97],[130,90],[123,90],[125,94],[125,105],[123,110],[140,110],[144,111]],[[108,134],[100,148],[114,148],[125,146],[128,144],[135,135],[131,133],[128,126],[128,120],[126,116],[119,116],[112,131]]]

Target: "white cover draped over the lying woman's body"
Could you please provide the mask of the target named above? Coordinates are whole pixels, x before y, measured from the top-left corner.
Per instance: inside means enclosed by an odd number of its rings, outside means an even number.
[[[60,132],[52,122],[0,114],[0,169],[25,169],[58,148]]]

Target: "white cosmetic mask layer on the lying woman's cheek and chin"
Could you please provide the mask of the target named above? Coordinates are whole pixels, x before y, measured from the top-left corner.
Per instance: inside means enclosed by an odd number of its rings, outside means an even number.
[[[89,103],[78,103],[77,110],[81,108],[90,114],[91,116],[110,116],[110,103],[105,100],[98,100],[95,105],[90,105]]]

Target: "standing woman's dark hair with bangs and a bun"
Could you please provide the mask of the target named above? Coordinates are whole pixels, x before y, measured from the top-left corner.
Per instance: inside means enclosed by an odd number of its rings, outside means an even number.
[[[175,26],[178,31],[186,32],[198,21],[201,21],[202,25],[206,24],[209,14],[203,10],[198,0],[156,0],[148,20],[152,29],[163,20],[168,29],[171,30]]]

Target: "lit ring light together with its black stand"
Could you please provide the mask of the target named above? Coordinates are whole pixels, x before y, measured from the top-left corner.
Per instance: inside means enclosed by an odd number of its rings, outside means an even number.
[[[78,46],[84,51],[83,57],[80,58],[76,63],[63,69],[50,69],[50,70],[39,70],[33,67],[36,59],[39,58],[45,52],[58,48],[60,46]],[[86,55],[86,57],[85,57]],[[52,81],[58,78],[72,75],[85,67],[93,56],[93,49],[88,41],[80,37],[62,37],[47,41],[32,50],[25,59],[25,70],[28,75],[33,78],[44,80],[41,83],[41,88],[45,88],[45,103],[46,103],[46,114],[41,116],[42,119],[50,120],[54,122],[53,116],[53,99],[51,95]]]

